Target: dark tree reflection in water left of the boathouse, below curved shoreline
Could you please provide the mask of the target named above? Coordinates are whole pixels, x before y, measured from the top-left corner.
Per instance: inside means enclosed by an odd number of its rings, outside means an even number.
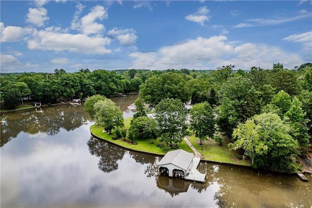
[[[118,161],[125,154],[125,150],[91,137],[87,142],[92,155],[99,157],[98,168],[104,172],[111,172],[118,169]]]

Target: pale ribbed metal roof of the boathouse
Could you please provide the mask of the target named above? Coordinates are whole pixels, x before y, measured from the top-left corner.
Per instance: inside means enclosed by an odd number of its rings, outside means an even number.
[[[171,163],[175,166],[183,168],[184,170],[187,170],[187,168],[192,163],[193,158],[193,153],[184,151],[183,149],[177,149],[167,152],[167,154],[157,163],[157,165],[160,166]]]

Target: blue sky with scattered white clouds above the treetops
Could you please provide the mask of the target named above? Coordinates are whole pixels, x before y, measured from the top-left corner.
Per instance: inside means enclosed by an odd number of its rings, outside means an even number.
[[[312,62],[312,1],[0,1],[1,72],[292,69]]]

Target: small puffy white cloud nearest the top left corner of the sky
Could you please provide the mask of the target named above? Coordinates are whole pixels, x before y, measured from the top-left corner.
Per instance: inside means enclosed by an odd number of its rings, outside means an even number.
[[[42,27],[44,22],[49,20],[48,11],[45,8],[29,8],[28,10],[26,22]]]

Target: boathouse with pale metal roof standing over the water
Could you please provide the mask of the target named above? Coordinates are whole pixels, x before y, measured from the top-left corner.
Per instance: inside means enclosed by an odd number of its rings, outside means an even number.
[[[182,149],[167,152],[167,154],[156,164],[160,174],[169,177],[185,178],[193,163],[194,154]]]

